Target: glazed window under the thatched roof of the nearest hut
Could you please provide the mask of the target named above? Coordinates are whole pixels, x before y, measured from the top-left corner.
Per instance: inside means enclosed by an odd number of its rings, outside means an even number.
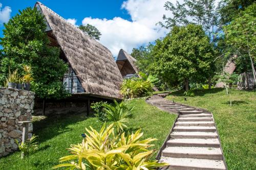
[[[68,72],[64,75],[63,84],[66,86],[66,90],[70,93],[82,93],[84,89],[77,78],[75,71],[69,67]]]

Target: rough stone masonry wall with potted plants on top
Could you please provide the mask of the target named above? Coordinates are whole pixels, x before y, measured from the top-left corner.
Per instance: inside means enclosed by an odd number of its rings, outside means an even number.
[[[31,120],[34,98],[31,91],[0,87],[0,157],[17,150],[15,139],[21,141],[23,129],[18,122]],[[29,137],[32,130],[31,123]]]

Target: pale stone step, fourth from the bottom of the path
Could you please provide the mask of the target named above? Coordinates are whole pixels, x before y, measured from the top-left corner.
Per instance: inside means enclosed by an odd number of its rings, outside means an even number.
[[[174,139],[211,139],[218,138],[216,132],[172,132],[170,137]]]

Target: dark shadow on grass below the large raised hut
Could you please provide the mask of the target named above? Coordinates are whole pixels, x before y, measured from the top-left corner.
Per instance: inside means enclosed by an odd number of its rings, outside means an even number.
[[[89,117],[92,117],[89,116]],[[47,141],[61,133],[72,131],[69,125],[88,119],[86,114],[61,114],[48,116],[33,122],[33,133],[39,136],[39,141]]]

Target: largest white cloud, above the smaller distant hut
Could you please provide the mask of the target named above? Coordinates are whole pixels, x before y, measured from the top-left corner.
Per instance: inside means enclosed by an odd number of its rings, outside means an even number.
[[[166,34],[167,30],[156,26],[156,23],[162,20],[163,14],[167,13],[163,7],[165,2],[166,0],[127,0],[121,8],[127,10],[132,21],[120,17],[86,17],[82,24],[90,23],[98,28],[102,34],[100,42],[108,47],[114,56],[117,56],[121,48],[131,53],[134,47],[152,42]]]

